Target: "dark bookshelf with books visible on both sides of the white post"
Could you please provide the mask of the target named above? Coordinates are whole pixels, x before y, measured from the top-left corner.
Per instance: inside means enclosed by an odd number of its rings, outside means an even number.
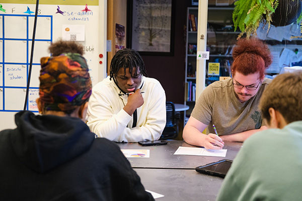
[[[220,76],[230,76],[230,68],[233,63],[232,48],[236,43],[237,36],[240,32],[234,32],[232,6],[216,7],[209,5],[207,9],[207,29],[206,29],[206,51],[210,52],[209,60],[205,61],[205,82],[207,86],[210,83],[219,80]],[[186,75],[185,75],[185,104],[190,107],[186,112],[189,117],[198,97],[196,94],[196,51],[197,31],[193,31],[193,16],[198,16],[198,8],[189,7],[187,9],[187,40],[186,40]],[[198,22],[198,20],[197,20]],[[197,25],[198,30],[198,25]],[[209,63],[219,65],[219,75],[208,75],[207,66]],[[218,63],[218,64],[217,64]]]

